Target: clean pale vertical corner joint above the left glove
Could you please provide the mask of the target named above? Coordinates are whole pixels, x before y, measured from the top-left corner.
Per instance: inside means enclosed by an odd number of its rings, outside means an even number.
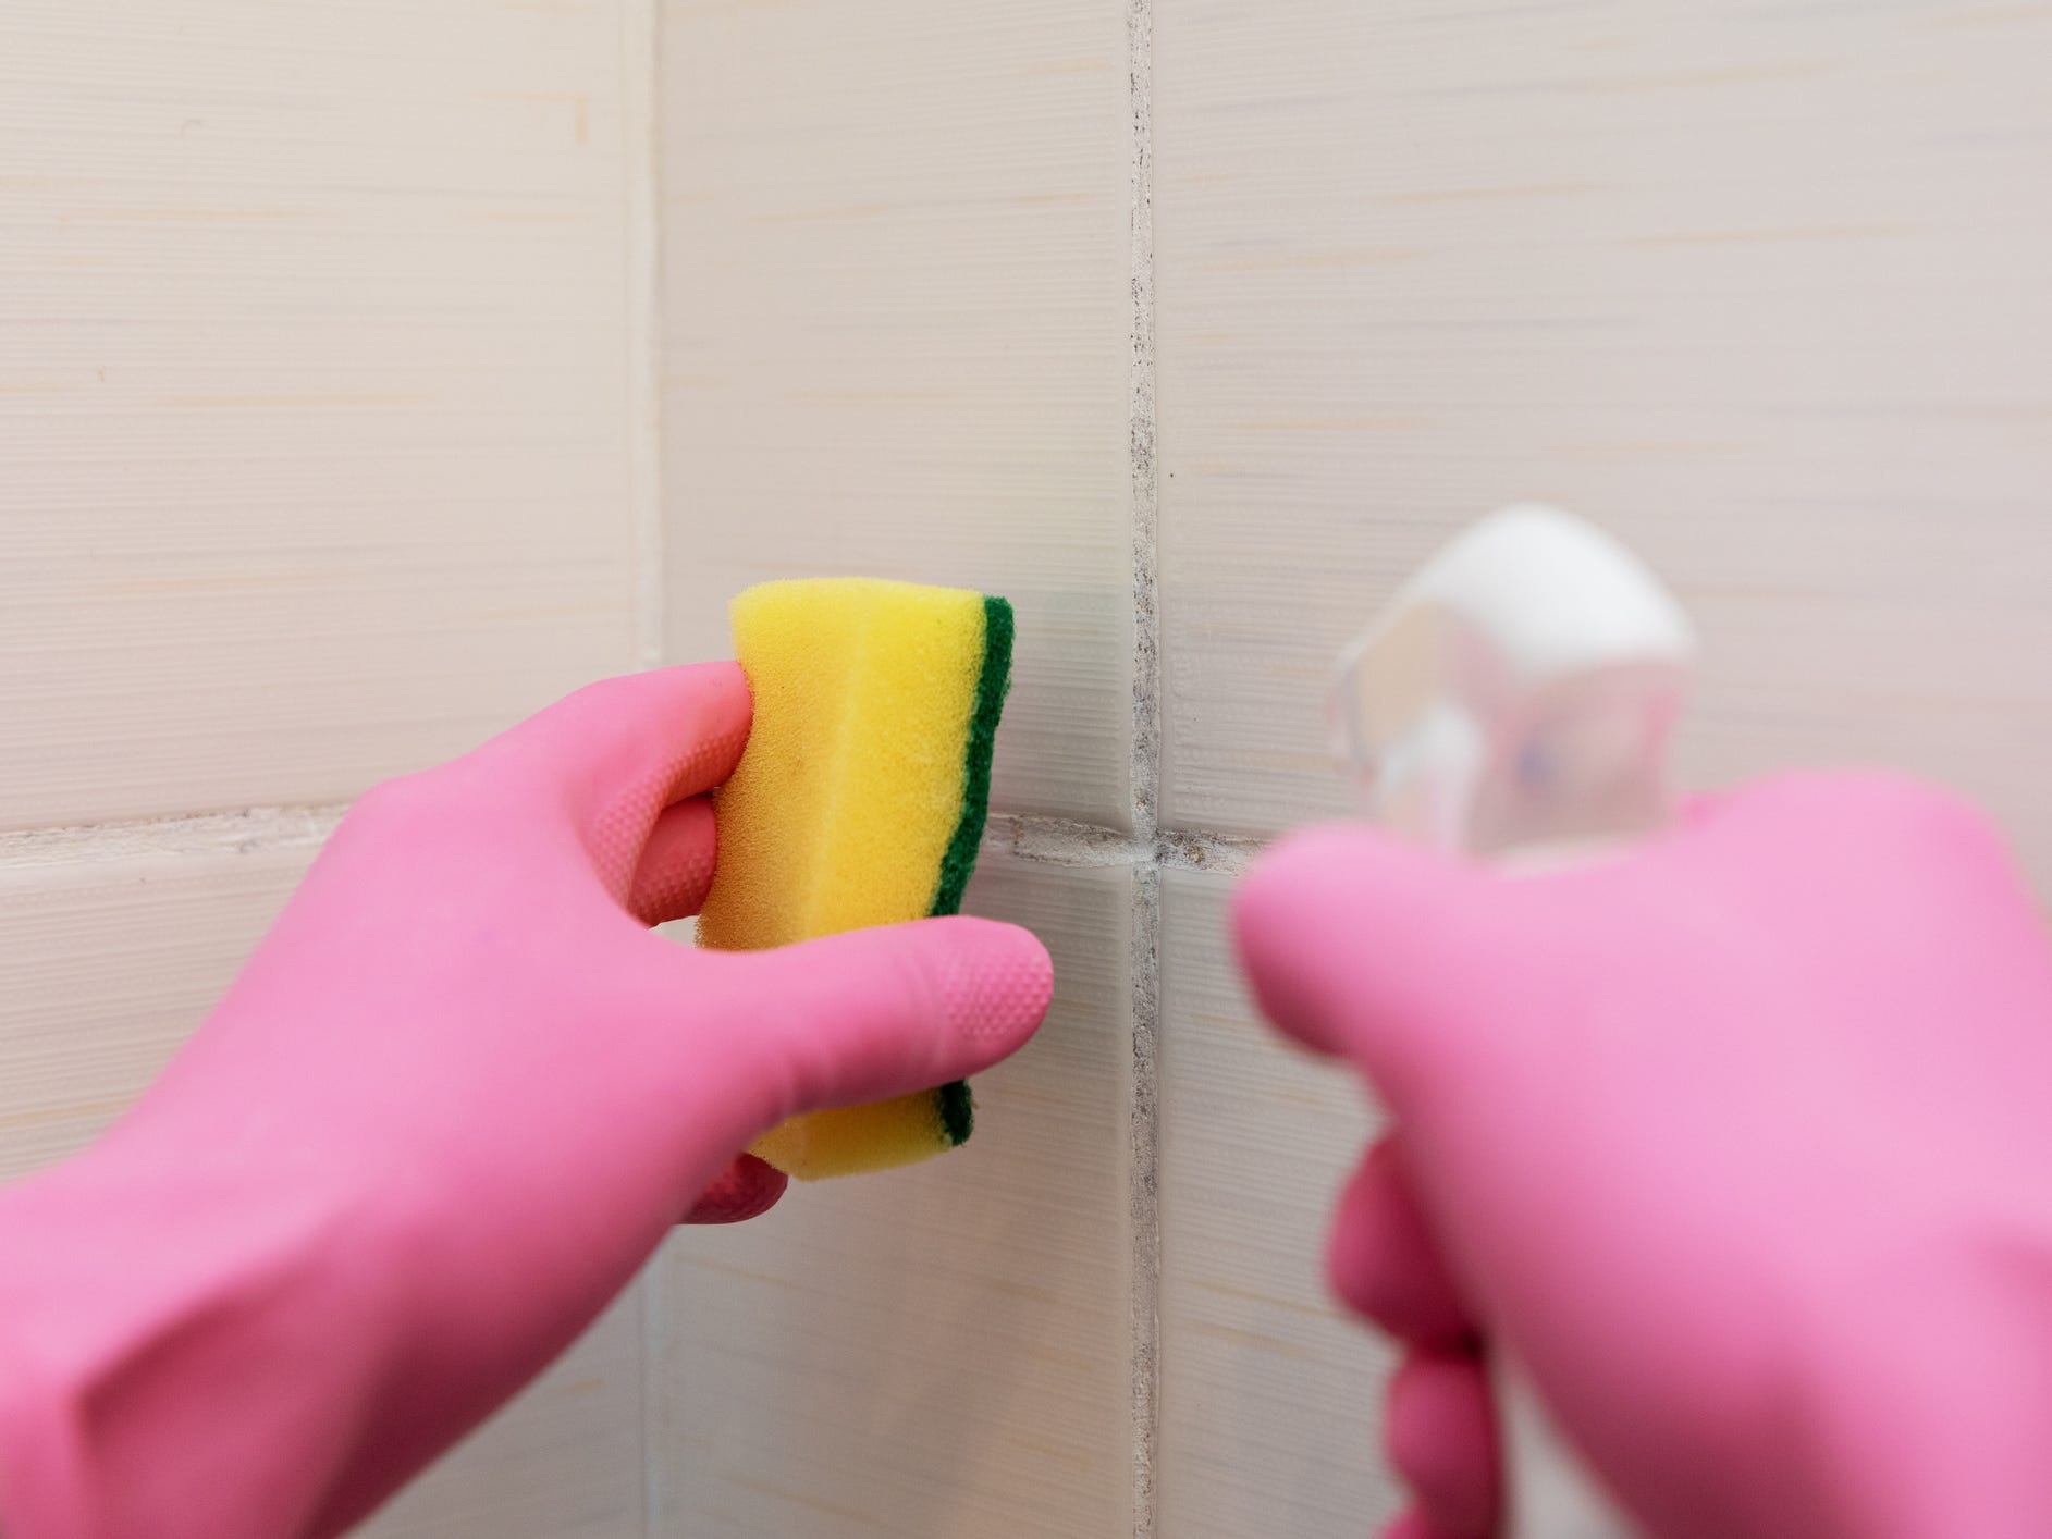
[[[628,289],[628,509],[634,521],[634,663],[661,667],[663,566],[663,125],[657,0],[622,0]]]

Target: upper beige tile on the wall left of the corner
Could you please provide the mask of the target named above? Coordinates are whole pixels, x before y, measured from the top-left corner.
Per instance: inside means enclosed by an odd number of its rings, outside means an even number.
[[[341,800],[634,661],[618,4],[0,16],[0,827]]]

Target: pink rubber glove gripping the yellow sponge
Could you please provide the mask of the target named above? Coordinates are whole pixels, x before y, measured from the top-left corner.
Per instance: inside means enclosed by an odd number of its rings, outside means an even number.
[[[1026,1040],[1012,925],[648,934],[747,726],[737,667],[642,673],[363,798],[133,1112],[0,1192],[0,1529],[337,1533],[749,1188],[751,1137]]]

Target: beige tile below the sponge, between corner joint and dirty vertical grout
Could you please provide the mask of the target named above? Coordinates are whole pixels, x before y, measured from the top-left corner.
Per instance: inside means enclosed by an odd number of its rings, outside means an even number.
[[[1055,1010],[962,1149],[671,1241],[653,1533],[1131,1533],[1129,882],[985,862],[971,907],[1047,940]]]

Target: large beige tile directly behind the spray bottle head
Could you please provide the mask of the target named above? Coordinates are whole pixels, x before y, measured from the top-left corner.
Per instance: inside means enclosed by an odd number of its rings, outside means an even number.
[[[2052,878],[2042,6],[1155,14],[1168,817],[1340,806],[1324,673],[1469,517],[1637,544],[1687,767],[1880,757]]]

